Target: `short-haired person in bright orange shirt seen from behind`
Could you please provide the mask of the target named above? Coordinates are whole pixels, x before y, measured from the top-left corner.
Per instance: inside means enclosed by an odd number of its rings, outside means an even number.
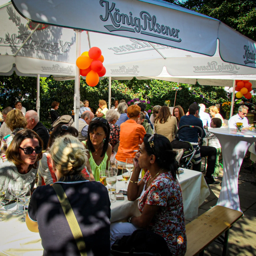
[[[120,126],[120,143],[115,159],[119,166],[126,163],[126,158],[134,158],[146,134],[145,128],[137,123],[141,108],[137,105],[129,106],[127,116],[129,119]]]

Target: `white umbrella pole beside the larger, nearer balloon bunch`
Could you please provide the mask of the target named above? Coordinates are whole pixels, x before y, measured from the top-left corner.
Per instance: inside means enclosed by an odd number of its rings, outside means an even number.
[[[76,30],[76,59],[81,55],[81,30]],[[75,128],[78,129],[79,120],[79,110],[80,110],[80,69],[76,65],[76,76],[75,76],[75,93],[74,93],[74,114]]]

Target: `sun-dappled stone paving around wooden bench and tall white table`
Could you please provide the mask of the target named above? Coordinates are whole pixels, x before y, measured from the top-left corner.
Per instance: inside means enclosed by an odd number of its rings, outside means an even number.
[[[220,182],[222,177],[219,176]],[[256,186],[251,182],[238,181],[239,199],[244,216],[238,220],[229,231],[227,256],[256,255]],[[210,185],[211,194],[198,209],[198,215],[187,219],[186,224],[215,206],[221,189],[221,184]],[[224,235],[224,234],[223,234]],[[222,256],[223,245],[213,242],[204,251],[207,256]]]

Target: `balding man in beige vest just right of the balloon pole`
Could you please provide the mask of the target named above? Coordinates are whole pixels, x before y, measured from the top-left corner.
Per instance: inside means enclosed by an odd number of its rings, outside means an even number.
[[[89,123],[94,118],[94,114],[92,111],[86,110],[82,113],[81,117],[78,120],[78,139],[80,142],[85,141],[88,137],[88,127]],[[72,123],[73,127],[74,123]]]

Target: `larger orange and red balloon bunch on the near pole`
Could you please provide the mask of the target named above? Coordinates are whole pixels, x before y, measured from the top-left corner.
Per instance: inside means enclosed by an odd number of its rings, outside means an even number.
[[[77,58],[76,65],[80,68],[80,75],[86,77],[86,83],[93,87],[99,82],[99,77],[106,74],[103,66],[104,57],[101,55],[101,49],[92,47],[88,52],[83,52]]]

